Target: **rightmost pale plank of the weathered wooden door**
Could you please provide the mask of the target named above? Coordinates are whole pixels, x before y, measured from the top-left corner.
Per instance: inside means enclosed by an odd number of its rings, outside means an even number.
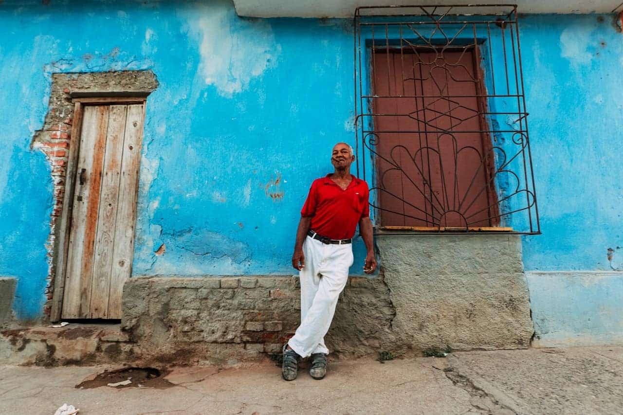
[[[144,105],[128,105],[123,160],[121,161],[115,248],[110,279],[110,295],[108,296],[108,318],[121,318],[123,284],[130,278],[132,272],[138,169],[141,160],[144,114]]]

